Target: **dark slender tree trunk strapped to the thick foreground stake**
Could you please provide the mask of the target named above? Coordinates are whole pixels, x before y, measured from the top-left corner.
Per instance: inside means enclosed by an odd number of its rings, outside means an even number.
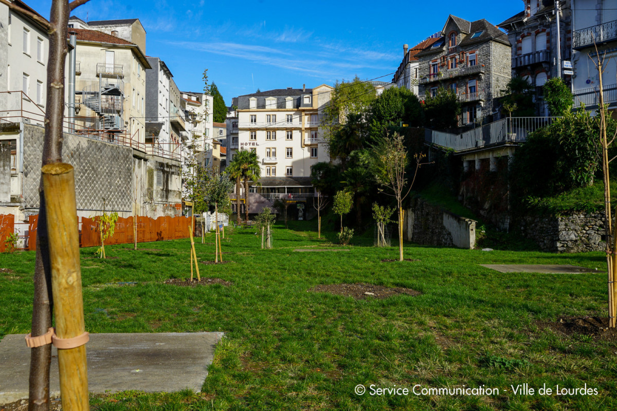
[[[10,1],[2,1],[10,10],[15,10],[27,15],[35,22],[43,25],[49,33],[49,53],[47,65],[47,92],[46,92],[46,112],[45,112],[45,136],[43,139],[42,165],[62,163],[62,117],[64,116],[64,68],[67,56],[68,38],[68,15],[72,10],[85,4],[88,0],[52,0],[49,22],[41,18],[31,9],[20,7]],[[39,215],[38,229],[36,231],[36,257],[34,275],[34,298],[32,310],[32,329],[31,336],[42,336],[48,333],[51,327],[52,317],[52,290],[51,290],[51,262],[53,255],[50,253],[46,202],[43,189],[43,175],[39,185]],[[77,230],[77,227],[75,227]],[[70,242],[77,239],[67,240],[65,248],[73,248],[75,243]],[[77,244],[78,246],[78,244]],[[78,269],[78,267],[77,267]],[[81,290],[80,290],[81,291]],[[72,301],[73,307],[77,311],[82,307],[82,301]],[[80,315],[75,312],[75,315]],[[81,313],[83,315],[83,311]],[[57,321],[59,319],[56,319]],[[57,324],[57,323],[56,323]],[[58,327],[57,327],[58,328]],[[60,336],[61,330],[57,330]],[[28,397],[28,410],[47,411],[49,410],[49,365],[51,364],[51,344],[31,349],[30,361],[30,396]],[[81,352],[74,357],[73,364],[76,367],[86,368],[85,350],[83,358]],[[73,380],[73,376],[68,375],[65,381]],[[64,391],[61,384],[60,390]],[[70,397],[70,398],[69,398]],[[75,384],[75,390],[71,395],[62,395],[62,407],[70,409],[76,406],[86,409],[88,407],[88,385],[87,377],[81,376],[81,383]]]

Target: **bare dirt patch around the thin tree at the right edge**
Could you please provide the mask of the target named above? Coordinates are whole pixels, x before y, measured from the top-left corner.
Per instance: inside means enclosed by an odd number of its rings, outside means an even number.
[[[607,317],[559,317],[557,321],[537,321],[539,328],[572,336],[588,335],[598,341],[617,341],[617,328],[608,328]]]

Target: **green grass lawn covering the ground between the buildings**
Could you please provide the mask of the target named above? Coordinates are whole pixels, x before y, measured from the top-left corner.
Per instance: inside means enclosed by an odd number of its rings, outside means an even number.
[[[326,246],[315,222],[273,231],[260,250],[254,230],[228,232],[230,264],[201,264],[202,277],[232,284],[177,287],[187,278],[189,241],[81,250],[86,330],[91,333],[222,331],[201,393],[93,396],[100,410],[611,410],[617,409],[617,346],[537,326],[558,315],[606,316],[602,253],[375,248],[370,235],[349,252]],[[372,230],[370,230],[372,234]],[[207,237],[213,242],[213,237]],[[396,241],[393,245],[397,245]],[[213,245],[196,243],[200,259]],[[0,338],[30,330],[35,253],[0,254]],[[598,274],[500,274],[478,264],[576,264]],[[133,283],[135,282],[135,283]],[[421,291],[387,299],[307,292],[319,284],[365,282]],[[197,348],[196,348],[197,349]],[[598,395],[515,395],[510,385],[597,388]],[[498,388],[493,396],[362,396],[376,388]]]

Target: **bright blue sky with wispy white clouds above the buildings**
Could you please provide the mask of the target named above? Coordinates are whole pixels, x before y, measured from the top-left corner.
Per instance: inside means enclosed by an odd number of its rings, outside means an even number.
[[[51,0],[26,0],[49,17]],[[395,6],[392,6],[392,5]],[[470,1],[118,1],[91,0],[83,20],[139,18],[146,54],[160,57],[183,91],[203,89],[202,72],[231,97],[337,79],[391,81],[410,47],[441,31],[449,14],[497,24],[523,10],[521,0]]]

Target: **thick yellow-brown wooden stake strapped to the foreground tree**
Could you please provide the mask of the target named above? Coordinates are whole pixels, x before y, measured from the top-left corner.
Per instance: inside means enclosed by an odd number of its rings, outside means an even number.
[[[51,260],[54,314],[58,338],[73,338],[85,332],[75,177],[73,166],[54,163],[43,166],[43,189]],[[58,350],[62,409],[88,410],[86,346]]]

